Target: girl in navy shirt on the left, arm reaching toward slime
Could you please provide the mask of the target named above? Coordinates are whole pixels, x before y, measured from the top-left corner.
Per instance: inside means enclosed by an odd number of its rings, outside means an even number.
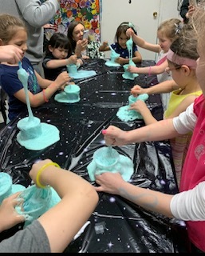
[[[23,51],[22,67],[29,74],[28,94],[30,106],[37,107],[48,102],[49,98],[69,83],[69,74],[65,71],[59,74],[56,80],[50,81],[41,78],[34,70],[28,58],[24,57],[27,50],[26,27],[20,18],[10,14],[0,15],[0,45],[18,46]],[[9,95],[9,121],[14,120],[22,111],[27,110],[26,94],[22,82],[18,79],[18,62],[10,64],[1,62],[0,64],[0,83],[2,89]],[[43,90],[42,90],[43,89]]]

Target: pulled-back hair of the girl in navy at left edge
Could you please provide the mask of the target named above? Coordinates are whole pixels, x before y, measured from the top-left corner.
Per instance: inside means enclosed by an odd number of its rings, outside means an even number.
[[[24,22],[10,14],[0,14],[0,38],[7,44],[19,29],[26,30]]]

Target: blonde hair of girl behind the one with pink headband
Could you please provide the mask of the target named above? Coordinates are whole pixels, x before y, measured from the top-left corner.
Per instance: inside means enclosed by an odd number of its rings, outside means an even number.
[[[164,34],[166,38],[173,42],[175,38],[178,38],[177,26],[182,23],[179,18],[170,18],[160,24],[157,31]]]

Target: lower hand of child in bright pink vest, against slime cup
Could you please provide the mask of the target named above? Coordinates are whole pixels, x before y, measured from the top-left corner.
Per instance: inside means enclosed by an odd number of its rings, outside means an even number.
[[[95,175],[97,184],[100,186],[95,186],[98,192],[104,191],[109,194],[119,194],[120,188],[122,188],[124,179],[120,173],[105,172],[100,175]]]

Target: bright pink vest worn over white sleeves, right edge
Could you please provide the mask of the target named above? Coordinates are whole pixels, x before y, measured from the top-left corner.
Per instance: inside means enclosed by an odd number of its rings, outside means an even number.
[[[184,162],[179,190],[190,190],[199,182],[205,181],[205,99],[201,95],[195,99],[195,124],[191,143]],[[187,221],[187,232],[191,242],[205,251],[205,221]]]

